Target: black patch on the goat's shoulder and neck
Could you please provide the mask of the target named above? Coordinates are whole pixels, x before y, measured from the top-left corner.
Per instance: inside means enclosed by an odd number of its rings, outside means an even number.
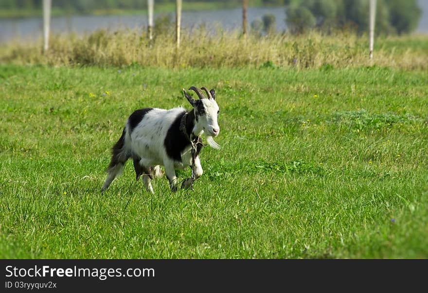
[[[177,162],[181,162],[181,152],[186,146],[190,145],[189,139],[180,130],[181,118],[184,114],[186,114],[186,112],[183,111],[182,113],[177,115],[177,117],[174,119],[174,122],[171,124],[168,131],[166,132],[165,140],[163,142],[168,157]],[[189,136],[191,135],[193,127],[195,126],[194,119],[195,113],[194,111],[190,111],[189,114],[187,114],[185,124],[186,131]],[[199,153],[200,148],[196,151],[197,153]]]

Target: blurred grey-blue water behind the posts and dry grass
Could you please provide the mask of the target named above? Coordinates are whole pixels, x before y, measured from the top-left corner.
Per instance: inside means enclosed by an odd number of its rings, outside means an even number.
[[[422,8],[422,17],[417,33],[428,33],[428,1],[418,0]],[[285,7],[254,8],[247,11],[248,23],[270,13],[275,16],[277,31],[285,30]],[[156,17],[157,15],[155,15]],[[174,19],[174,17],[173,17]],[[242,9],[222,9],[215,11],[183,12],[182,27],[193,28],[206,23],[209,29],[214,29],[220,24],[226,30],[239,29],[242,26]],[[90,33],[97,29],[108,28],[116,30],[119,28],[143,28],[147,26],[147,16],[60,16],[51,20],[53,33],[75,32]],[[0,43],[7,42],[14,37],[36,39],[42,35],[41,17],[22,19],[0,19]]]

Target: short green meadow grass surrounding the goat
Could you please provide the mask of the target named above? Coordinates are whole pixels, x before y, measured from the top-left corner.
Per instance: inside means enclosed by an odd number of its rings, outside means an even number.
[[[376,66],[1,65],[0,257],[427,258],[426,80]],[[146,193],[128,163],[101,195],[127,115],[187,106],[191,85],[215,88],[222,146],[202,150],[195,190],[161,178]]]

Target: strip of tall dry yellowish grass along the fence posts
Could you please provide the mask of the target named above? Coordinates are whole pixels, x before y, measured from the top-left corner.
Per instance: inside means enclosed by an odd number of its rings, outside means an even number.
[[[323,66],[392,66],[428,68],[428,36],[379,37],[374,59],[368,58],[368,38],[355,33],[325,35],[269,34],[242,36],[238,32],[184,31],[176,49],[174,35],[162,33],[149,42],[139,30],[99,30],[84,36],[53,35],[50,49],[42,42],[16,40],[0,48],[1,63],[50,65],[138,64],[156,67],[278,66],[321,68]]]

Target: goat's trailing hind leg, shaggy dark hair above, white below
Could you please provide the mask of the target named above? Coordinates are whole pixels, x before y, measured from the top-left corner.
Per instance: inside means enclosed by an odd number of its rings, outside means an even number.
[[[117,143],[111,148],[111,160],[107,167],[107,179],[104,182],[101,192],[106,190],[110,186],[111,182],[120,175],[124,170],[126,161],[131,157],[130,151],[126,146],[126,127],[122,131],[122,136],[119,138]]]

